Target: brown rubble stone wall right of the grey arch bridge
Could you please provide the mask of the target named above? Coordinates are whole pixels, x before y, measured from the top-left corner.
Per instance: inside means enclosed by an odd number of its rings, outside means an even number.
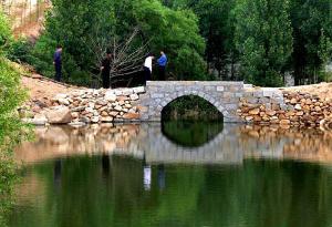
[[[329,95],[290,89],[270,89],[268,91],[273,95],[264,95],[266,91],[248,90],[240,100],[238,114],[245,122],[332,128],[332,99]]]

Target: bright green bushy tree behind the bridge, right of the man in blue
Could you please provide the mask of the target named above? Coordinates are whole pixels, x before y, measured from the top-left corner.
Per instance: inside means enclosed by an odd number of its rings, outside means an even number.
[[[169,56],[169,71],[177,80],[206,80],[204,39],[198,19],[190,10],[172,10],[159,1],[135,1],[135,18],[152,51],[164,50]]]

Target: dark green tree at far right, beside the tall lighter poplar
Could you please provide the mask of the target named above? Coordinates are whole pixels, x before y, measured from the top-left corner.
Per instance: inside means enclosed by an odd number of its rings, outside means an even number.
[[[298,85],[303,84],[304,80],[318,82],[319,72],[326,60],[331,60],[331,52],[326,47],[329,39],[332,38],[331,8],[331,0],[291,1],[294,40],[292,63]]]

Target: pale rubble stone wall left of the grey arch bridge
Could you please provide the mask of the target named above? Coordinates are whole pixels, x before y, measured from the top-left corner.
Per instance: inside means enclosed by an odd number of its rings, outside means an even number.
[[[20,110],[20,116],[35,125],[110,123],[137,121],[144,109],[137,104],[143,86],[116,90],[73,90],[52,99],[33,99]]]

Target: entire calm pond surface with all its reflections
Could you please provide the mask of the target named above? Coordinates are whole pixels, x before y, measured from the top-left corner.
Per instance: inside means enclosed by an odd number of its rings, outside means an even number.
[[[205,122],[38,128],[15,152],[9,226],[332,226],[331,138]]]

